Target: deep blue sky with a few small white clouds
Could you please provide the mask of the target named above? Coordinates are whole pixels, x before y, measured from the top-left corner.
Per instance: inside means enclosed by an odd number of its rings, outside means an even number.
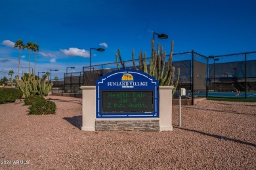
[[[169,53],[195,50],[205,56],[256,50],[256,1],[249,0],[12,0],[0,5],[0,78],[9,70],[18,75],[18,49],[22,39],[37,42],[37,71],[63,78],[89,65],[115,61],[120,48],[123,60],[135,50],[150,56],[152,31],[169,39],[156,42]],[[28,50],[22,50],[20,70],[28,72]],[[32,65],[33,57],[32,53]]]

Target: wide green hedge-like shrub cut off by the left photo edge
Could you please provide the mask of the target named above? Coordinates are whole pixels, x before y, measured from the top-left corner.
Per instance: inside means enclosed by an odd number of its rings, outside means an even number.
[[[12,103],[16,99],[22,98],[22,91],[16,88],[1,88],[0,89],[0,104]]]

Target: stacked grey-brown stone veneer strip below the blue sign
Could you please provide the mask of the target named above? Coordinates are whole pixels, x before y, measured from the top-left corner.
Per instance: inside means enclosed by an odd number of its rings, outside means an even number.
[[[96,131],[160,131],[159,120],[96,120]]]

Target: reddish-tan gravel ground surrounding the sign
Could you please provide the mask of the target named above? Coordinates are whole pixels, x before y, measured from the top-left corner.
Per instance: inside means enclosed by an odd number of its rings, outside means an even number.
[[[184,106],[181,128],[173,105],[173,131],[92,132],[81,131],[81,99],[47,99],[56,114],[0,105],[0,169],[256,169],[256,103]]]

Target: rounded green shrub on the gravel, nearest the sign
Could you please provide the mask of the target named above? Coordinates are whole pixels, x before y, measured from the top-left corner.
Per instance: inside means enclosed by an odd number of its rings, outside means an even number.
[[[28,114],[54,114],[56,112],[56,104],[49,100],[37,100],[29,107]]]

